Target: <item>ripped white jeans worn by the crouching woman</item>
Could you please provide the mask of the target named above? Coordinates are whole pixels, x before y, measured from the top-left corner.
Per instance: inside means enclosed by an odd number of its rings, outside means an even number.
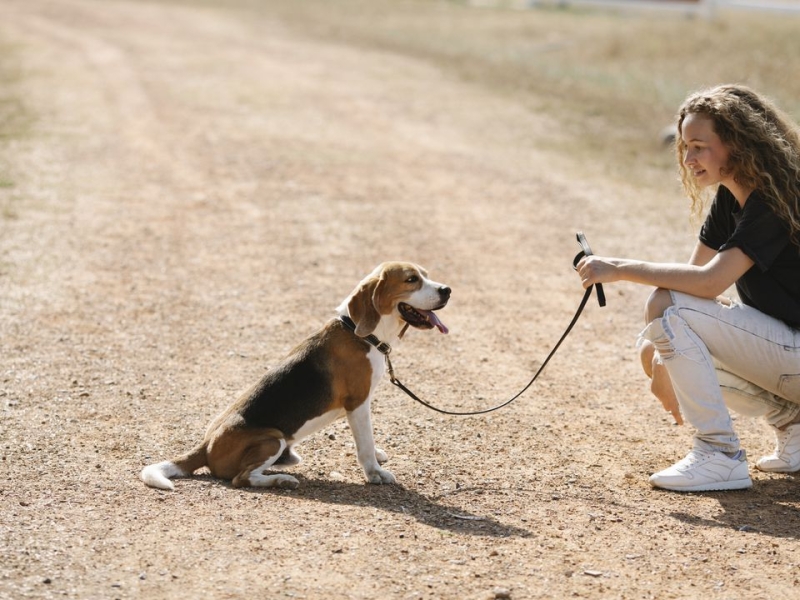
[[[670,294],[673,305],[640,336],[669,373],[695,447],[739,449],[728,408],[774,427],[800,413],[800,330],[738,302]]]

